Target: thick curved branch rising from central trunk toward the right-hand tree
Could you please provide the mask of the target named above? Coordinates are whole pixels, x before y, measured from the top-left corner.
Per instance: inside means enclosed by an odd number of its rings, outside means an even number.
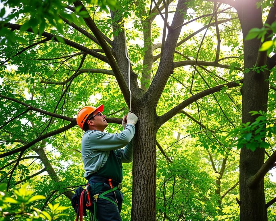
[[[165,123],[166,121],[168,121],[170,118],[172,118],[177,113],[179,113],[183,108],[185,108],[189,104],[192,104],[196,100],[198,100],[200,98],[203,98],[203,97],[205,97],[207,95],[213,94],[215,92],[218,92],[221,89],[223,89],[224,87],[227,87],[227,88],[237,87],[237,86],[240,85],[241,82],[242,82],[242,80],[239,80],[239,83],[237,83],[236,81],[232,81],[232,82],[227,83],[227,84],[222,84],[222,85],[218,85],[216,87],[212,87],[212,88],[206,89],[206,90],[204,90],[202,92],[199,92],[198,94],[195,94],[195,95],[191,96],[190,98],[186,99],[182,103],[180,103],[177,106],[175,106],[174,108],[172,108],[170,111],[168,111],[164,115],[158,116],[157,117],[157,124],[158,124],[158,126],[160,127],[163,123]]]

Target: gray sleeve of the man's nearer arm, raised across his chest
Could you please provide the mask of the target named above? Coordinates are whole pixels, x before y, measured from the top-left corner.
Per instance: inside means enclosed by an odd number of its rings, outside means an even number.
[[[89,144],[91,149],[97,151],[117,150],[129,144],[134,136],[134,133],[135,127],[133,124],[127,124],[120,133],[115,134],[93,130],[89,134]],[[132,152],[132,145],[130,146],[127,147],[127,150],[131,149]],[[127,150],[126,153],[129,152]],[[129,155],[130,153],[127,153],[126,158],[129,158]]]

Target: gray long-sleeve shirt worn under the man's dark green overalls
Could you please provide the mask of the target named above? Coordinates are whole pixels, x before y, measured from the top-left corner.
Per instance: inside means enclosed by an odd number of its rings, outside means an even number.
[[[96,173],[106,163],[110,150],[116,150],[122,163],[132,161],[132,138],[135,133],[133,124],[127,126],[120,133],[110,134],[99,130],[88,130],[81,140],[81,156],[84,164],[84,177]],[[125,147],[124,149],[122,149]]]

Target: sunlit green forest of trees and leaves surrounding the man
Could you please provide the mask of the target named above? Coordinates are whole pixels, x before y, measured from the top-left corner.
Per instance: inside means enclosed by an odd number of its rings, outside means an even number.
[[[275,220],[275,2],[2,4],[0,219],[75,220],[76,113],[120,132],[130,79],[123,220]]]

